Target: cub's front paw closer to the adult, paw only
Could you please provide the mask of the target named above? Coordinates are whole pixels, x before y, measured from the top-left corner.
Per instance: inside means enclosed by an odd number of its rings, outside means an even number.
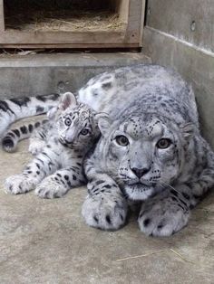
[[[65,185],[59,184],[52,176],[44,178],[43,182],[35,188],[35,194],[41,198],[62,197],[67,191]]]

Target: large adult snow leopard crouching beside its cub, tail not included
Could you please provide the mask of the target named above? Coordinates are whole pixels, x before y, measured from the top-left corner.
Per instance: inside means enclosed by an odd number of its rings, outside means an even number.
[[[214,184],[214,154],[199,134],[190,87],[175,71],[139,65],[92,78],[79,99],[109,113],[100,116],[102,137],[84,163],[85,222],[119,229],[131,200],[141,202],[142,232],[178,232]]]

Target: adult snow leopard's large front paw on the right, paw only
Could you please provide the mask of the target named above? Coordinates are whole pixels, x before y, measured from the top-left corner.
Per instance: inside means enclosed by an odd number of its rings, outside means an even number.
[[[164,237],[180,231],[188,222],[190,211],[183,204],[154,199],[141,206],[139,226],[150,236]]]

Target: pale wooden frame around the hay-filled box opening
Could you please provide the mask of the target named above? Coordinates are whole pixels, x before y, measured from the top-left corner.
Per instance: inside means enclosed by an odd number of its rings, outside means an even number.
[[[24,32],[5,29],[4,0],[0,0],[2,48],[116,48],[140,47],[145,0],[112,0],[118,5],[124,30],[99,32]]]

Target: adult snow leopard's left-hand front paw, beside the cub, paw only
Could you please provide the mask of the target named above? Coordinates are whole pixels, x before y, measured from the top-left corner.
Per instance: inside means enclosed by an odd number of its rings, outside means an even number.
[[[108,199],[108,196],[88,196],[83,203],[85,222],[102,230],[117,230],[125,222],[127,204],[122,198]]]

